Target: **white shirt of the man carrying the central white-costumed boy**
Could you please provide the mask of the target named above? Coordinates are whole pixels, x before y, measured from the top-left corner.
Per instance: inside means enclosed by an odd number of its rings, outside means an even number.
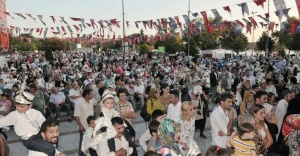
[[[115,149],[116,151],[119,149],[125,149],[127,151],[127,156],[129,156],[132,151],[130,152],[129,150],[129,143],[128,141],[125,139],[124,136],[121,137],[120,139],[115,138]],[[107,140],[105,141],[101,141],[98,145],[97,145],[97,154],[98,156],[115,156],[115,152],[110,152],[108,144],[107,144]]]

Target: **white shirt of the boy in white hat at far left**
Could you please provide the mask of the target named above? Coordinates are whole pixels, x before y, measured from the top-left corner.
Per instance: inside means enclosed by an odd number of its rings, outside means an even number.
[[[26,113],[19,113],[15,110],[0,118],[0,127],[13,125],[16,134],[23,140],[27,140],[39,133],[40,127],[45,120],[42,113],[35,109],[29,109]]]

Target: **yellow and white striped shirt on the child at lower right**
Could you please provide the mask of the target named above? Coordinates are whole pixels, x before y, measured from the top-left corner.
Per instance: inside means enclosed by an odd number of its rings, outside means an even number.
[[[239,156],[251,156],[251,150],[255,150],[252,140],[242,140],[238,135],[234,136],[229,143],[234,148],[234,154]]]

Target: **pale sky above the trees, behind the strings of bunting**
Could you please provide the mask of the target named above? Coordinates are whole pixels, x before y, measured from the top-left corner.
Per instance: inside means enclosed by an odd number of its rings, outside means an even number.
[[[132,34],[134,32],[139,32],[143,25],[139,25],[139,29],[135,27],[134,21],[151,20],[158,18],[167,18],[174,16],[181,16],[187,14],[188,12],[188,2],[189,0],[124,0],[125,4],[125,21],[130,21],[130,28],[126,27],[126,34]],[[256,15],[264,15],[267,12],[268,3],[264,4],[264,8],[261,6],[256,6],[252,1],[247,0],[190,0],[191,12],[207,11],[208,16],[214,17],[211,9],[217,9],[218,12],[223,16],[224,20],[241,20],[243,18],[241,13],[241,8],[236,4],[247,2],[250,15],[245,15],[248,19],[252,16],[251,12],[257,12]],[[298,12],[295,4],[295,0],[285,0],[287,8],[291,8],[289,15],[298,17]],[[22,14],[32,14],[34,17],[36,15],[43,15],[43,20],[47,24],[46,27],[58,27],[61,26],[58,17],[56,17],[57,22],[53,23],[49,16],[62,16],[65,17],[66,21],[70,25],[78,25],[80,22],[74,22],[69,19],[69,17],[85,18],[85,22],[89,22],[89,19],[98,20],[109,20],[118,19],[122,21],[122,0],[7,0],[7,12],[15,12]],[[223,10],[224,6],[230,6],[231,15]],[[34,20],[28,18],[27,20],[18,17],[13,14],[15,20],[7,17],[8,25],[18,26],[21,28],[45,28],[45,26],[39,22],[37,19]],[[191,16],[192,17],[192,16]],[[257,22],[262,22],[263,20],[259,17],[254,17]],[[270,19],[276,23],[279,23],[279,19],[275,15],[275,6],[273,0],[270,0]],[[284,21],[285,18],[282,19]],[[182,16],[180,21],[184,22]],[[242,20],[241,20],[242,21]],[[244,23],[244,22],[243,22]],[[112,35],[115,34],[122,35],[122,22],[121,28],[113,27]],[[63,24],[63,26],[65,26]],[[99,25],[98,25],[99,26]],[[75,28],[71,26],[75,34],[77,34]],[[278,27],[279,30],[279,27]],[[68,31],[68,30],[67,30]],[[92,28],[87,28],[81,34],[90,34],[94,32]],[[259,37],[263,29],[259,25],[259,29],[255,30],[255,40]],[[246,30],[244,29],[244,33]],[[106,30],[105,35],[108,31]],[[147,28],[145,34],[154,34],[154,30]],[[38,34],[34,34],[38,36]],[[48,32],[47,36],[52,35]],[[76,36],[76,35],[75,35]],[[247,34],[248,38],[251,36]],[[252,37],[250,38],[252,40]]]

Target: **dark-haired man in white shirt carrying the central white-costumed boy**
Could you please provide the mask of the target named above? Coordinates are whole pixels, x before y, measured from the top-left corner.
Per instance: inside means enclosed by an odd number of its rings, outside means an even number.
[[[101,141],[97,145],[98,156],[129,156],[133,149],[129,147],[130,138],[126,138],[124,135],[124,121],[120,117],[114,117],[111,119],[112,125],[116,131],[114,138],[107,141]]]

